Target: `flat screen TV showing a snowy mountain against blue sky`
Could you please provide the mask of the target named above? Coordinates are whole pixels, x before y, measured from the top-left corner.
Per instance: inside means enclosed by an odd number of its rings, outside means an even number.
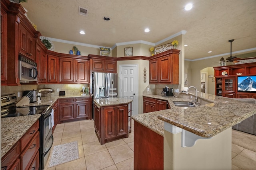
[[[256,76],[238,76],[238,92],[256,93]]]

